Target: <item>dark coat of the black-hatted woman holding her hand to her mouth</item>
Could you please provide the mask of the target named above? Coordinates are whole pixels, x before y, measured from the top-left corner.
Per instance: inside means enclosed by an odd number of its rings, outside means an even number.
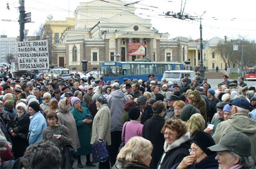
[[[186,169],[218,169],[219,168],[219,163],[217,160],[215,160],[217,153],[214,153],[213,155],[210,155],[206,158],[204,158],[202,161],[200,161],[199,163],[193,163],[193,165],[189,166]],[[177,163],[176,165],[174,165],[173,167],[171,167],[171,169],[175,169],[178,167],[180,163]]]

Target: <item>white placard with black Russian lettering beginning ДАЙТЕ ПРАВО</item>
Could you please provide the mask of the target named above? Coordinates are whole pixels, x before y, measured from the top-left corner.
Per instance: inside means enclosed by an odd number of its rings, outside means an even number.
[[[49,69],[47,40],[18,42],[18,70]]]

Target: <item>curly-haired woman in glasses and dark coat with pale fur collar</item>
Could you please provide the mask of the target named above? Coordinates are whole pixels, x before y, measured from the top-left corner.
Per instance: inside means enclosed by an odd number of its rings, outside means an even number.
[[[164,153],[157,169],[171,168],[189,155],[190,136],[184,121],[168,119],[161,132],[164,134]]]

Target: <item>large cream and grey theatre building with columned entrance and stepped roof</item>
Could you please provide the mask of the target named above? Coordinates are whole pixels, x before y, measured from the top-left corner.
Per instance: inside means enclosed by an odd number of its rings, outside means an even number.
[[[188,60],[188,38],[168,39],[168,33],[159,33],[150,22],[136,16],[133,4],[125,6],[114,0],[110,7],[103,1],[81,2],[75,12],[75,29],[65,30],[55,43],[57,65],[65,58],[66,68],[82,71],[81,61],[87,60],[87,70],[91,71],[106,61]],[[145,56],[129,55],[129,43],[144,43]]]

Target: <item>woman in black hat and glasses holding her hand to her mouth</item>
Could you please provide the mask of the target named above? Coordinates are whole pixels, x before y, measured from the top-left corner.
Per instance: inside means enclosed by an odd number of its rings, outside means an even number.
[[[190,155],[171,167],[171,169],[185,168],[218,168],[218,161],[215,160],[216,152],[210,151],[208,147],[215,145],[213,138],[204,131],[196,132],[191,141]]]

